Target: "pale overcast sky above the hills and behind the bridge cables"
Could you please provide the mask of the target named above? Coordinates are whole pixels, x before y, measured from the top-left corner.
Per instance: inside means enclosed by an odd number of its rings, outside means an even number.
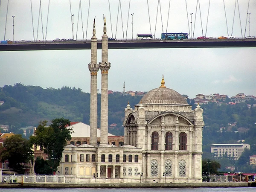
[[[48,25],[49,1],[41,0],[43,31],[41,17],[38,26],[40,1],[32,0],[34,35],[30,0],[9,0],[7,23],[8,1],[0,2],[1,40],[4,39],[5,34],[6,39],[12,40],[13,15],[15,15],[14,40],[16,41],[33,40],[34,37],[43,40],[43,32],[44,38],[47,35],[47,40],[73,36],[69,0],[50,0]],[[166,32],[166,28],[167,32],[189,33],[191,18],[189,13],[193,13],[192,33],[195,38],[202,36],[202,31],[204,35],[207,31],[206,36],[216,38],[222,35],[227,36],[227,30],[230,36],[232,34],[241,38],[244,36],[245,28],[245,36],[248,36],[249,32],[247,12],[251,12],[250,35],[256,36],[256,0],[250,0],[248,11],[248,0],[239,0],[239,11],[236,0],[225,0],[228,28],[223,0],[212,0],[210,6],[209,0],[200,0],[203,27],[201,27],[199,9],[196,13],[197,0],[187,0],[187,12],[186,0],[171,0],[168,27],[169,0],[160,0],[163,28],[160,7],[156,22],[158,0],[148,0],[150,23],[147,0],[131,0],[129,12],[129,0],[120,0],[122,15],[119,7],[118,22],[119,0],[109,0],[109,2],[111,17],[108,0],[90,0],[90,9],[88,9],[89,0],[81,0],[84,38],[90,39],[92,36],[94,17],[96,17],[96,36],[98,39],[101,38],[103,15],[106,15],[109,37],[113,34],[113,37],[119,39],[131,38],[132,13],[134,13],[133,38],[136,38],[137,33],[151,33],[155,38],[160,38],[161,33]],[[71,0],[71,9],[74,14],[74,38],[83,39],[79,0]],[[234,22],[233,17],[235,17]],[[195,32],[193,32],[194,24]],[[186,94],[190,98],[194,98],[198,93],[220,93],[230,97],[236,93],[245,93],[256,96],[256,48],[111,49],[108,59],[111,62],[108,76],[109,90],[122,91],[123,81],[125,81],[125,90],[149,91],[160,86],[162,74],[164,74],[166,87],[180,94]],[[101,50],[98,51],[98,61],[101,61]],[[87,68],[89,62],[90,50],[0,52],[0,87],[5,84],[23,83],[43,88],[79,87],[84,92],[90,92],[90,72]],[[100,81],[101,77],[98,75],[99,90]]]

